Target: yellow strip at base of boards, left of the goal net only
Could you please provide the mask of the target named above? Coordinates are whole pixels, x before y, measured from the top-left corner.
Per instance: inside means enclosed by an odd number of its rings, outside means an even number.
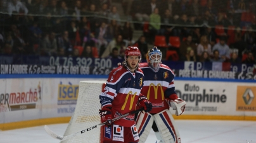
[[[49,125],[55,123],[68,123],[71,117],[41,118],[36,120],[26,120],[20,122],[0,123],[0,130],[13,130],[39,125]]]

